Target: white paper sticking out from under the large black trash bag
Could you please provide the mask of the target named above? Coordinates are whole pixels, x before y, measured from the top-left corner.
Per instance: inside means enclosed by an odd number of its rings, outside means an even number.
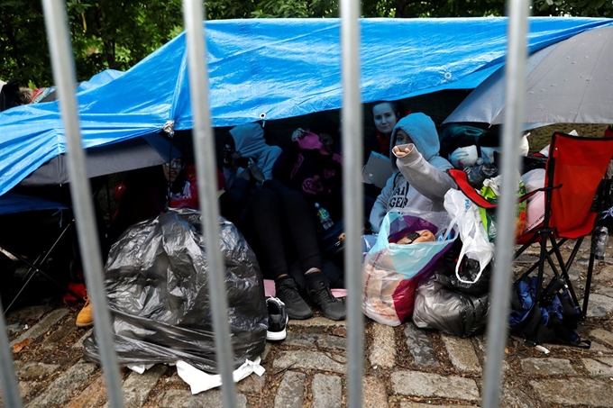
[[[261,358],[256,358],[255,361],[245,360],[242,366],[236,368],[233,372],[234,383],[238,383],[242,378],[250,376],[252,373],[262,376],[266,369],[261,367],[260,362]],[[222,376],[220,374],[206,374],[204,371],[190,366],[185,361],[177,362],[177,374],[183,381],[188,383],[192,394],[202,393],[222,385]]]

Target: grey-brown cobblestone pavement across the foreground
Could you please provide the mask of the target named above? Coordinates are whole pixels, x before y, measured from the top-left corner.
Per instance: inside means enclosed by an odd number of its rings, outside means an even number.
[[[514,268],[526,267],[537,254],[530,249]],[[588,257],[584,245],[571,270],[580,289]],[[591,349],[545,345],[551,352],[544,354],[509,338],[501,406],[613,407],[612,283],[613,263],[597,262],[590,315],[578,329],[581,338],[592,341]],[[100,368],[82,359],[81,343],[90,331],[75,327],[77,313],[78,305],[54,304],[26,307],[7,316],[12,345],[32,339],[14,353],[26,406],[105,406]],[[316,317],[291,321],[288,331],[286,340],[267,344],[262,356],[265,374],[253,374],[237,385],[238,406],[345,406],[345,323]],[[410,322],[389,327],[368,319],[364,333],[364,407],[479,405],[487,344],[483,335],[459,339],[418,330]],[[153,367],[144,375],[124,368],[121,373],[128,407],[222,405],[219,389],[191,395],[174,367]]]

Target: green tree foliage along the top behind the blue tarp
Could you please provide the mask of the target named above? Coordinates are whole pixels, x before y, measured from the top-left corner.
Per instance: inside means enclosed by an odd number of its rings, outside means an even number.
[[[180,0],[67,0],[78,80],[125,70],[183,30]],[[364,17],[504,15],[501,0],[361,0]],[[613,17],[611,0],[535,0],[533,15]],[[338,16],[332,0],[210,0],[209,20]],[[0,78],[50,86],[51,70],[40,0],[0,0]]]

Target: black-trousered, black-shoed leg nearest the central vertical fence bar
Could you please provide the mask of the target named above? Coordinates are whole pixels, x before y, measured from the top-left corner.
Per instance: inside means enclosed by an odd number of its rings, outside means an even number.
[[[305,197],[288,189],[283,192],[281,203],[286,225],[305,273],[309,299],[321,308],[328,319],[343,320],[346,315],[344,304],[332,295],[330,285],[321,271],[322,259],[317,245],[314,217]]]

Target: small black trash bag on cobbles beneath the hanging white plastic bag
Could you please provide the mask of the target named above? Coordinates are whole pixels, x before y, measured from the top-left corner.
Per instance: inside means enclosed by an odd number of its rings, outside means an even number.
[[[444,286],[444,275],[436,272],[417,285],[413,322],[420,329],[437,329],[458,337],[469,337],[485,329],[489,294],[463,294]]]

